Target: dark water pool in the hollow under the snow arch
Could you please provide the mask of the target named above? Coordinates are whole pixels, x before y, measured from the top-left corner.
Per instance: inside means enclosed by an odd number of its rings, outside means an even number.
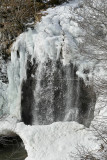
[[[27,157],[27,152],[22,142],[6,139],[0,143],[0,160],[24,160]]]

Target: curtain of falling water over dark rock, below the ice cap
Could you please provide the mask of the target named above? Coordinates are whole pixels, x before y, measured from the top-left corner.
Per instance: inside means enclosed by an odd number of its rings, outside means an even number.
[[[28,60],[27,79],[22,84],[22,120],[26,124],[77,121],[89,126],[95,95],[76,71],[73,64],[63,66],[60,60],[40,64]]]

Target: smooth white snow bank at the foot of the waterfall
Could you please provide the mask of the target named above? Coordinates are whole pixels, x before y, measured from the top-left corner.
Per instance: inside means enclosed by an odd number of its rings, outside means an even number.
[[[13,120],[0,122],[0,134],[7,131],[8,134],[13,132],[19,135],[28,153],[26,160],[74,160],[79,146],[89,151],[100,148],[93,133],[76,122],[27,126]]]

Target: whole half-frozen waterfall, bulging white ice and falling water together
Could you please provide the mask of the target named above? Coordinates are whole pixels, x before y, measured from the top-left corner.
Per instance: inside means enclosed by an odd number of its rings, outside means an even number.
[[[70,5],[56,7],[56,15],[51,10],[13,44],[8,67],[10,115],[25,124],[77,121],[89,126],[96,98],[90,86],[90,60],[84,62],[78,50],[83,33],[70,19]]]

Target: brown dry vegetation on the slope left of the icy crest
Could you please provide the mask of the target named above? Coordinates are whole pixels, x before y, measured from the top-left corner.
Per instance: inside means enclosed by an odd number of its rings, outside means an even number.
[[[1,0],[0,1],[0,51],[4,58],[10,54],[15,38],[27,29],[27,23],[40,20],[41,10],[64,0]],[[32,27],[32,26],[30,26]]]

